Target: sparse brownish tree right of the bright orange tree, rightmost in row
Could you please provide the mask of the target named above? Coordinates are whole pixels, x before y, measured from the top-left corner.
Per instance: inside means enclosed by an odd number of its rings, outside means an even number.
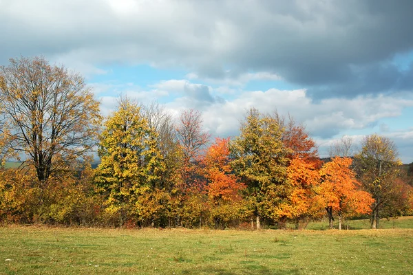
[[[394,210],[393,202],[397,199],[394,181],[399,176],[401,166],[397,155],[394,142],[376,134],[366,136],[361,142],[361,151],[355,155],[359,181],[374,199],[370,217],[374,229],[379,228],[381,217]]]

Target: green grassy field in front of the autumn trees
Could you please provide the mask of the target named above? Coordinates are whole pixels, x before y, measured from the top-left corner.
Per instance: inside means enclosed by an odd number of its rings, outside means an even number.
[[[413,230],[0,228],[0,274],[413,274]]]

